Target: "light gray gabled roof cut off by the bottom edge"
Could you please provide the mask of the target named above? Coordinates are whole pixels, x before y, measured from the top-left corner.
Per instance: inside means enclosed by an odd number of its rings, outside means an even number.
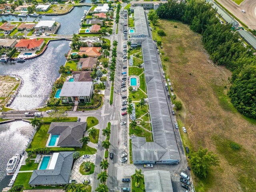
[[[144,171],[146,192],[173,192],[169,171]]]

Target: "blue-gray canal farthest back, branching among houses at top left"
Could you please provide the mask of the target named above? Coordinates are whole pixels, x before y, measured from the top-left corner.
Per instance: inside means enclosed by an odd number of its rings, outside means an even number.
[[[86,0],[88,1],[88,0]],[[89,3],[89,2],[88,2]],[[23,18],[23,21],[42,21],[42,20],[56,20],[61,24],[57,34],[61,35],[72,35],[74,33],[78,33],[78,30],[80,28],[79,24],[81,22],[81,17],[84,14],[84,10],[89,10],[91,6],[80,6],[75,7],[70,13],[66,15],[60,15],[60,16],[40,16],[40,17],[26,17]],[[7,20],[7,21],[19,21],[21,17],[10,15],[1,15],[0,20]]]

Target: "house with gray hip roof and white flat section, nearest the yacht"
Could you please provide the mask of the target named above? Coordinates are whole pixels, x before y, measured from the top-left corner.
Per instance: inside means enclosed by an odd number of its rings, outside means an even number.
[[[39,164],[40,169],[33,170],[28,184],[32,186],[68,184],[74,160],[73,153],[72,151],[58,152],[43,156]],[[50,159],[47,157],[50,157]],[[44,158],[46,159],[44,160]],[[46,168],[44,164],[41,167],[43,160]]]

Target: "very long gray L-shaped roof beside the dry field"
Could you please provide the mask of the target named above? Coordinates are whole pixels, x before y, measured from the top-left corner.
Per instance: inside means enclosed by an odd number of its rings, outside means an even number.
[[[142,54],[154,142],[132,138],[132,160],[180,161],[155,46],[151,38],[146,38],[142,42]]]

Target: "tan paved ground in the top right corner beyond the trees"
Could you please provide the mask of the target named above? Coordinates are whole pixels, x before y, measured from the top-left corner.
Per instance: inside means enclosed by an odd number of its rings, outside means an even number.
[[[218,0],[218,2],[248,27],[256,29],[256,0],[244,0],[239,6],[232,0]],[[246,13],[243,13],[242,10],[245,10]]]

